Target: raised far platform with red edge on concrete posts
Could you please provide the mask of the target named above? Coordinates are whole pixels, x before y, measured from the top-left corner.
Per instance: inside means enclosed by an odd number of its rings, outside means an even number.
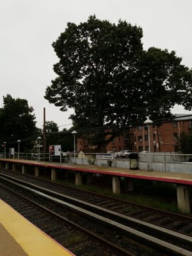
[[[57,170],[63,172],[75,172],[75,183],[77,186],[83,184],[83,173],[86,173],[87,184],[93,181],[93,175],[104,174],[112,176],[113,193],[121,193],[121,177],[125,177],[127,182],[127,191],[133,190],[133,179],[153,180],[158,182],[168,182],[177,184],[177,205],[181,211],[191,212],[191,191],[192,173],[183,172],[164,172],[151,170],[130,170],[129,168],[120,168],[112,166],[99,166],[96,164],[73,164],[73,163],[53,163],[44,161],[30,161],[26,159],[0,159],[0,168],[12,170],[20,169],[25,174],[28,167],[34,168],[35,177],[40,176],[41,167],[47,168],[51,172],[51,180],[57,180]]]

